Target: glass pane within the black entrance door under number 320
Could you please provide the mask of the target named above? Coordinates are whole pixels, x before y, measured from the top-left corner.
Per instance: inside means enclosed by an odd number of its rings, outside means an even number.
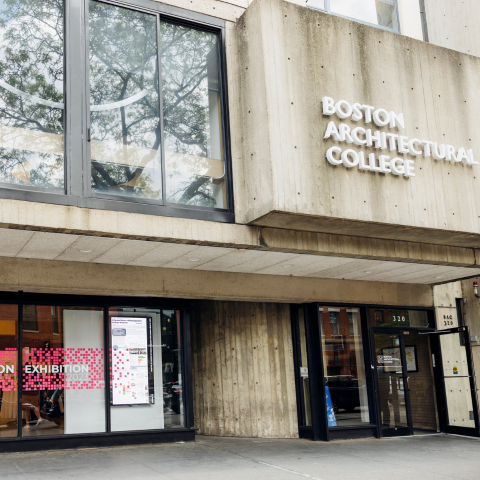
[[[375,355],[384,428],[408,427],[400,337],[375,335]]]

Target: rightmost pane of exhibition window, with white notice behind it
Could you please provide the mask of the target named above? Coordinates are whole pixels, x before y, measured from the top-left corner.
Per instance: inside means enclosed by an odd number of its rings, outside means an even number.
[[[180,312],[111,308],[109,318],[112,431],[183,426]]]

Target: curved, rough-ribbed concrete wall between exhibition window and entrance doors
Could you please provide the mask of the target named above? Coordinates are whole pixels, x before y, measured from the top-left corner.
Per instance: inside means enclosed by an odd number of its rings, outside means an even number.
[[[298,437],[288,305],[202,302],[192,319],[195,427],[205,435]]]

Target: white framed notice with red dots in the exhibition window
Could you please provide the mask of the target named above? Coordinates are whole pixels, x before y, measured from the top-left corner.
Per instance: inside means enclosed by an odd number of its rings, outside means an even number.
[[[154,403],[152,319],[111,317],[111,404]]]

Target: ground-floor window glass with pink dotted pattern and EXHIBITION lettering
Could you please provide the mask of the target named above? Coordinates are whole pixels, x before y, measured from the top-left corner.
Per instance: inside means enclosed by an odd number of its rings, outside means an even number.
[[[174,309],[0,305],[0,439],[184,428],[182,322]]]

